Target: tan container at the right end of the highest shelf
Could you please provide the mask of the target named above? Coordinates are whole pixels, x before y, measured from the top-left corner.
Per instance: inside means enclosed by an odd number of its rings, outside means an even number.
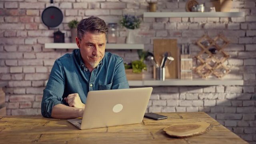
[[[212,2],[216,12],[230,12],[233,0],[215,0]]]

